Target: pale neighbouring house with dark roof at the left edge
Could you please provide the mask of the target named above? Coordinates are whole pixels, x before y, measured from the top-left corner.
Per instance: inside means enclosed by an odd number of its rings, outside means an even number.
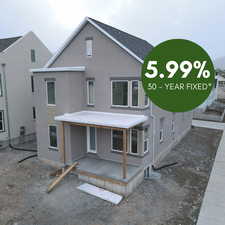
[[[22,37],[0,39],[1,145],[8,143],[9,138],[17,144],[34,137],[35,87],[29,70],[43,66],[51,56],[33,32]]]

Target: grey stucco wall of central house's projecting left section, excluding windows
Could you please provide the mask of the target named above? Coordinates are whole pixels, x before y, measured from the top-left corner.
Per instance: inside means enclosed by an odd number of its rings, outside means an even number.
[[[56,106],[47,105],[46,80],[55,79],[56,84]],[[46,73],[35,76],[35,105],[36,105],[36,129],[39,158],[60,162],[60,152],[49,148],[48,125],[58,127],[58,146],[60,146],[60,127],[54,120],[56,115],[82,110],[84,97],[82,94],[84,77],[79,72]],[[76,96],[76,97],[74,97]],[[70,128],[65,128],[66,149],[70,151],[71,140]],[[69,153],[67,155],[70,155]],[[67,161],[71,161],[67,158]]]

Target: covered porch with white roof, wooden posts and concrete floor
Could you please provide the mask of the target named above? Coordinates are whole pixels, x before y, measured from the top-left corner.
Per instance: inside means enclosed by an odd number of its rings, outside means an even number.
[[[144,115],[106,113],[96,111],[80,111],[64,114],[55,117],[56,121],[61,122],[60,131],[60,154],[61,161],[66,164],[65,149],[65,126],[93,127],[97,129],[119,130],[122,132],[123,146],[119,155],[120,160],[108,160],[101,157],[89,157],[86,155],[77,161],[79,162],[78,174],[100,180],[114,180],[121,184],[128,183],[139,172],[141,167],[128,164],[128,132],[129,129],[147,121],[148,117]],[[76,141],[76,140],[75,140]],[[79,146],[77,146],[79,148]]]

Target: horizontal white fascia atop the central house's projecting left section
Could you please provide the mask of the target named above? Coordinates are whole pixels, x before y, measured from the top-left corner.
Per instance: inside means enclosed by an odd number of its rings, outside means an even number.
[[[76,67],[55,67],[55,68],[40,68],[40,69],[31,69],[32,73],[46,73],[46,72],[84,72],[85,66],[76,66]]]

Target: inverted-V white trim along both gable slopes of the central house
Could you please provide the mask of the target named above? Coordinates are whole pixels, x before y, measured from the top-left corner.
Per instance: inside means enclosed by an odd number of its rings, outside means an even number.
[[[71,43],[71,41],[79,34],[79,32],[83,29],[83,27],[87,23],[92,24],[95,28],[97,28],[100,32],[105,34],[108,38],[110,38],[113,42],[115,42],[117,45],[119,45],[122,49],[124,49],[127,53],[129,53],[131,56],[133,56],[137,61],[140,63],[144,63],[142,59],[140,59],[134,52],[132,52],[130,49],[128,49],[126,46],[124,46],[122,43],[117,41],[114,37],[112,37],[109,33],[107,33],[105,30],[103,30],[100,26],[98,26],[92,19],[85,17],[85,19],[80,23],[80,25],[77,27],[77,29],[72,33],[72,35],[65,41],[65,43],[62,45],[61,48],[50,58],[50,60],[45,64],[44,68],[50,67],[55,60],[61,55],[61,53],[65,50],[65,48]]]

